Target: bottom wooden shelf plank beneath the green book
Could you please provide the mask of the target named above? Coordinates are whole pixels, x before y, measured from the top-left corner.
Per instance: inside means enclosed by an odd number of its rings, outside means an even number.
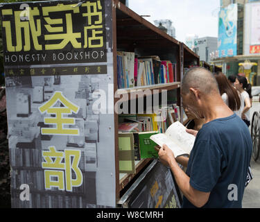
[[[128,182],[134,178],[137,173],[143,169],[148,162],[150,162],[151,159],[144,159],[140,161],[135,161],[135,173],[128,174],[128,173],[119,173],[119,190],[121,191],[126,185],[128,185]]]

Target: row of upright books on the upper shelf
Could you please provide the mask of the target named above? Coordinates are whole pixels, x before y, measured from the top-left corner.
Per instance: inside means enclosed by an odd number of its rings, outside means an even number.
[[[135,57],[135,53],[117,52],[118,88],[131,88],[177,80],[176,65],[161,61],[158,56]]]

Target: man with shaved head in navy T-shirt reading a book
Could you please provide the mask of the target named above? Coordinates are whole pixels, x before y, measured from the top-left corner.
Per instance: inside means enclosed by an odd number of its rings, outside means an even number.
[[[170,148],[159,158],[171,168],[184,194],[182,207],[242,207],[252,139],[245,123],[221,99],[213,74],[205,68],[187,71],[181,84],[183,106],[205,118],[191,154],[175,159]],[[198,133],[198,134],[197,134]],[[177,162],[187,167],[186,173]]]

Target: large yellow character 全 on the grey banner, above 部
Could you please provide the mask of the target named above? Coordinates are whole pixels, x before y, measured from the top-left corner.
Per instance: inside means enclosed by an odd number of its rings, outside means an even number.
[[[54,107],[60,101],[64,107]],[[44,123],[55,125],[56,128],[42,128],[42,135],[79,135],[79,130],[75,128],[64,128],[64,125],[75,125],[74,118],[63,118],[64,114],[78,113],[79,107],[67,100],[62,92],[55,92],[51,99],[40,106],[40,112],[55,114],[55,118],[44,118]]]

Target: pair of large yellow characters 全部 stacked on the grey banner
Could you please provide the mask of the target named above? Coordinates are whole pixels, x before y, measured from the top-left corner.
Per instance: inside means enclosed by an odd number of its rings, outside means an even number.
[[[65,107],[53,107],[58,101],[60,101]],[[44,123],[54,124],[55,128],[42,128],[42,135],[79,135],[79,130],[76,128],[64,128],[64,124],[75,124],[74,118],[62,118],[63,114],[71,114],[72,112],[78,113],[78,106],[68,101],[62,92],[55,92],[49,101],[39,108],[40,112],[48,114],[55,114],[55,118],[44,118]],[[42,163],[42,168],[51,169],[44,170],[44,182],[45,188],[51,189],[51,187],[58,187],[60,190],[64,190],[64,172],[58,171],[64,170],[66,175],[66,190],[72,191],[72,187],[79,187],[83,184],[83,175],[78,168],[80,160],[80,151],[78,150],[65,150],[64,152],[55,151],[55,147],[49,147],[49,152],[42,151],[42,155],[46,162]],[[73,163],[71,164],[71,155],[73,155]],[[55,158],[53,162],[51,158]],[[64,158],[65,162],[61,163]],[[76,163],[74,163],[76,162]],[[76,180],[71,178],[71,169],[76,172]],[[51,176],[55,176],[58,180],[51,180]]]

